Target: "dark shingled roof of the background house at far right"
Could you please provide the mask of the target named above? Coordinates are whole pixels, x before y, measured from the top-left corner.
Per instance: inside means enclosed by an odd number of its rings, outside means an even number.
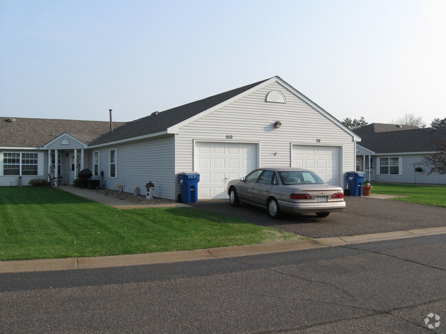
[[[398,128],[394,124],[372,123],[355,130],[361,136],[359,145],[380,153],[434,152],[446,141],[446,128]]]

